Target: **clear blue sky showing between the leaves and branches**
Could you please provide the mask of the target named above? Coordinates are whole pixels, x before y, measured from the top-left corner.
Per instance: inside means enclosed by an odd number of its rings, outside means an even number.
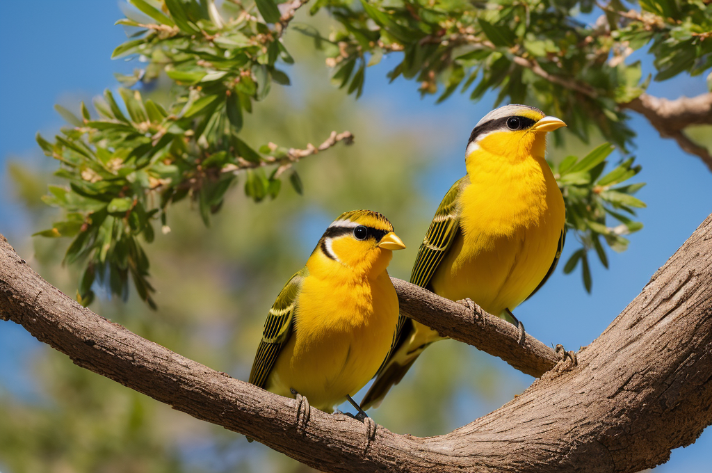
[[[114,1],[0,2],[0,233],[22,238],[36,230],[28,227],[22,209],[11,201],[6,159],[46,165],[34,135],[38,130],[51,134],[62,124],[53,104],[88,100],[115,87],[114,72],[132,71],[132,63],[110,60],[112,49],[125,40],[122,28],[112,26],[120,16]],[[368,71],[362,100],[389,103],[393,120],[449,123],[463,137],[444,147],[438,166],[422,180],[434,208],[463,174],[466,137],[491,103],[473,104],[454,96],[436,106],[431,99],[419,99],[414,83],[389,85],[384,78],[388,68],[384,63]],[[649,92],[674,98],[704,90],[703,78],[679,78],[654,83]],[[585,293],[578,274],[564,276],[559,269],[536,298],[518,309],[527,331],[545,343],[578,348],[593,341],[712,212],[712,173],[674,142],[662,140],[645,120],[636,117],[632,125],[638,132],[636,154],[644,167],[640,180],[648,183],[639,192],[649,206],[639,213],[645,228],[632,236],[628,251],[609,255],[609,270],[592,265],[592,295]],[[34,347],[36,342],[22,328],[0,322],[0,385],[20,387],[27,382],[17,363]],[[706,472],[710,451],[708,429],[691,447],[674,451],[670,462],[656,472]]]

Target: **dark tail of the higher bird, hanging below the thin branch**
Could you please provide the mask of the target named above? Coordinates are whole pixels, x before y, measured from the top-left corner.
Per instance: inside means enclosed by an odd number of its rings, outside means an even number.
[[[361,401],[361,408],[378,407],[392,386],[400,383],[405,373],[425,348],[434,341],[442,340],[436,331],[422,323],[407,319],[402,329],[401,343],[384,363],[376,375],[366,395]]]

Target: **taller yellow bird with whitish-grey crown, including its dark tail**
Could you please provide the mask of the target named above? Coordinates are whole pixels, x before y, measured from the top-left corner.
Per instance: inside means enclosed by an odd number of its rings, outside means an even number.
[[[472,130],[467,175],[445,194],[410,281],[453,301],[471,299],[518,323],[511,311],[553,273],[565,239],[565,207],[544,159],[546,133],[566,126],[527,105],[505,105]],[[438,333],[399,318],[389,358],[361,402],[378,405]]]

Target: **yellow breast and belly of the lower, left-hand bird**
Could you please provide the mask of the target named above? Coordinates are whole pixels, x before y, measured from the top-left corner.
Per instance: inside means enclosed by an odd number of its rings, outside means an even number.
[[[268,380],[273,393],[290,388],[331,412],[376,373],[390,348],[398,298],[385,270],[355,276],[316,254],[297,300],[294,332]],[[325,271],[320,266],[333,266]]]

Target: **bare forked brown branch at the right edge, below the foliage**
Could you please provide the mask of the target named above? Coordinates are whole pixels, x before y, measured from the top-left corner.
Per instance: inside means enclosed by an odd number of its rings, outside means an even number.
[[[712,125],[712,93],[675,100],[644,93],[628,103],[619,105],[643,115],[658,130],[661,137],[673,138],[683,150],[700,157],[712,171],[710,152],[706,147],[690,140],[683,132],[684,128],[690,125]]]

